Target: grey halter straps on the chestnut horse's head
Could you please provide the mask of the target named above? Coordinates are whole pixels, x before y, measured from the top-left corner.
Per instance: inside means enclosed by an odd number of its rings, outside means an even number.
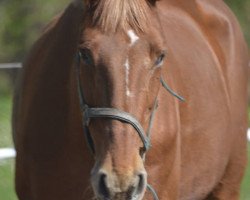
[[[91,119],[95,119],[95,118],[109,118],[109,119],[114,119],[114,120],[119,120],[123,123],[128,123],[131,126],[134,127],[134,129],[136,130],[136,132],[138,133],[138,136],[140,137],[142,143],[143,143],[143,152],[144,152],[144,158],[145,158],[145,154],[146,152],[150,149],[151,147],[151,143],[150,143],[150,136],[151,136],[151,129],[153,126],[153,121],[154,121],[154,115],[155,115],[155,111],[158,107],[158,101],[157,99],[155,99],[154,102],[154,107],[153,110],[151,112],[150,115],[150,119],[149,119],[149,125],[148,125],[148,129],[147,132],[145,133],[145,131],[143,130],[140,122],[130,113],[127,113],[125,111],[116,109],[116,108],[92,108],[89,107],[89,105],[87,104],[85,98],[84,98],[84,93],[83,93],[83,89],[82,89],[82,85],[81,85],[81,78],[80,78],[80,62],[81,62],[81,58],[82,55],[80,52],[77,53],[76,55],[76,60],[77,60],[77,66],[76,66],[76,72],[77,72],[77,88],[78,88],[78,95],[79,95],[79,100],[80,100],[80,109],[81,109],[81,113],[82,113],[82,122],[83,122],[83,128],[84,128],[84,133],[85,133],[85,138],[87,140],[89,149],[91,150],[91,152],[93,154],[95,154],[95,146],[94,146],[94,142],[93,139],[91,137],[90,131],[89,131],[89,123],[91,121]],[[163,80],[163,78],[161,77],[161,83],[163,85],[163,87],[170,93],[172,94],[174,97],[178,98],[181,101],[185,101],[185,99],[181,96],[179,96],[178,94],[176,94],[167,84],[166,82]],[[152,193],[154,200],[159,200],[156,191],[152,188],[152,186],[150,186],[149,184],[147,184],[147,189]]]

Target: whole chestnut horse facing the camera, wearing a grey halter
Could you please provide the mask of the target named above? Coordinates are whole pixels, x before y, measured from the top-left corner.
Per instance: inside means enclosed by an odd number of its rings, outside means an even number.
[[[72,2],[17,89],[19,199],[239,199],[247,64],[222,0]]]

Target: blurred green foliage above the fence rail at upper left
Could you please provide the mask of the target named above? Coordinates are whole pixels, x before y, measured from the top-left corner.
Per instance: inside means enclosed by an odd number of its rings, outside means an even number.
[[[0,0],[0,62],[22,61],[42,28],[70,0]]]

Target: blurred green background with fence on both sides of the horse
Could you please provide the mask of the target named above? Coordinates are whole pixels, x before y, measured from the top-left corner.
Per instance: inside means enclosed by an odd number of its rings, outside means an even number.
[[[70,0],[0,0],[0,200],[17,200],[13,187],[14,159],[10,158],[15,155],[11,149],[12,95],[20,67],[15,63],[25,59],[43,27],[53,16],[62,12],[69,2]],[[225,2],[237,16],[250,46],[250,0]],[[3,63],[14,64],[1,65]],[[13,66],[17,68],[12,68]],[[250,113],[250,107],[248,111]],[[250,147],[248,152],[250,160]],[[1,157],[1,153],[7,159]],[[242,184],[241,200],[250,200],[250,164]]]

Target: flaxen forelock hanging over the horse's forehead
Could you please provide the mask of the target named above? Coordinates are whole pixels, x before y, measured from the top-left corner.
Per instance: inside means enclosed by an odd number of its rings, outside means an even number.
[[[145,0],[98,0],[93,10],[93,23],[105,32],[128,27],[144,31],[148,14],[149,5]]]

